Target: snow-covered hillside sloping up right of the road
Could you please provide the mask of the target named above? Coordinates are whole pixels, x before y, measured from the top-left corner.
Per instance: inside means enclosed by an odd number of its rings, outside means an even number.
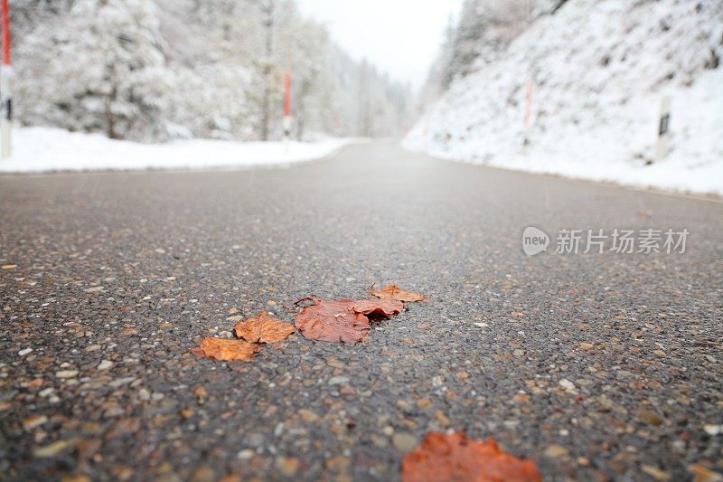
[[[721,58],[719,0],[569,0],[538,17],[499,60],[455,80],[405,146],[512,169],[723,194]],[[646,165],[666,95],[671,153]]]

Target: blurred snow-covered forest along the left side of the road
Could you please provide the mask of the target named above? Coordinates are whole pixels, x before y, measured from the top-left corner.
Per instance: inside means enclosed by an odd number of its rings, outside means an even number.
[[[113,138],[394,136],[411,92],[353,61],[294,0],[16,0],[17,117]]]

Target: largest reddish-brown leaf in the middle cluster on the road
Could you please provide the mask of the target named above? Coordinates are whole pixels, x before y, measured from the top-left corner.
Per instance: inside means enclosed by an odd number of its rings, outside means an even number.
[[[362,341],[369,331],[369,318],[354,312],[352,300],[311,300],[314,305],[305,307],[296,315],[296,328],[306,338],[354,345]]]

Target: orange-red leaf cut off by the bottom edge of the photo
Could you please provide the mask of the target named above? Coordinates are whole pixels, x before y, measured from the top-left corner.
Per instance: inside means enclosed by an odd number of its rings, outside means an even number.
[[[401,479],[537,482],[541,477],[533,461],[502,452],[493,439],[481,443],[462,433],[428,433],[422,444],[402,460]]]

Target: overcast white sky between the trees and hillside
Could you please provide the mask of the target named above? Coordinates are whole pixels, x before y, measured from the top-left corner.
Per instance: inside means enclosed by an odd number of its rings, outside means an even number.
[[[418,88],[462,0],[298,0],[356,59]]]

